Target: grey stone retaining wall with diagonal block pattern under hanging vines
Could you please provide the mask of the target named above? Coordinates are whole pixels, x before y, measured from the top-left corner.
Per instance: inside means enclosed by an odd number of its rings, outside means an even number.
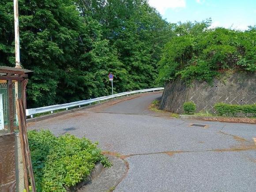
[[[197,112],[204,110],[215,113],[215,103],[255,104],[256,103],[256,73],[239,72],[232,75],[222,75],[221,80],[214,79],[213,85],[195,81],[192,87],[184,81],[170,81],[162,94],[160,108],[183,113],[183,103],[192,101],[197,105]]]

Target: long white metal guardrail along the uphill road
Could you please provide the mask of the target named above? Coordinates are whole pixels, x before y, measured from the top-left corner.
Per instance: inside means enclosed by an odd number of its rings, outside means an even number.
[[[124,95],[128,94],[135,94],[135,93],[143,93],[143,92],[149,92],[149,91],[155,91],[155,90],[163,90],[164,87],[158,87],[158,88],[151,88],[151,89],[143,89],[143,90],[134,90],[134,91],[129,91],[129,92],[124,92],[124,93],[118,93],[118,94],[113,94],[109,96],[104,96],[104,97],[99,97],[99,98],[94,98],[94,99],[88,99],[88,100],[83,100],[83,101],[78,101],[78,102],[72,102],[72,103],[65,103],[65,104],[60,104],[60,105],[51,105],[51,106],[46,106],[46,107],[39,107],[39,108],[34,108],[34,109],[26,109],[26,116],[30,116],[33,118],[34,114],[38,113],[45,113],[45,112],[51,112],[58,110],[58,109],[66,109],[75,106],[81,106],[81,105],[86,105],[94,102],[100,102],[103,100],[107,100],[110,98],[116,98],[116,97],[121,97]]]

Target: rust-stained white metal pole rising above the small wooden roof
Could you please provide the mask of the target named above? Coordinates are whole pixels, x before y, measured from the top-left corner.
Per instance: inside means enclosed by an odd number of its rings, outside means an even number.
[[[21,68],[19,58],[19,11],[18,0],[13,0],[14,4],[14,31],[15,31],[15,68]]]

